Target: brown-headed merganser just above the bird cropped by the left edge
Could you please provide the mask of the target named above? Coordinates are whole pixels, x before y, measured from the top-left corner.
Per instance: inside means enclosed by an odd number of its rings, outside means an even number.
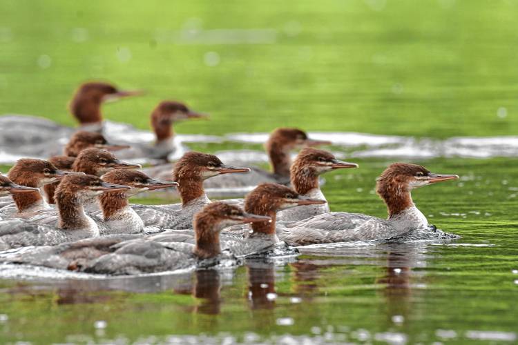
[[[64,178],[69,173],[58,170],[48,161],[24,158],[19,159],[9,170],[8,177],[16,184],[40,189],[46,184],[52,184]],[[0,209],[3,217],[28,218],[39,210],[49,208],[39,190],[13,195],[12,199],[14,204],[10,203]]]

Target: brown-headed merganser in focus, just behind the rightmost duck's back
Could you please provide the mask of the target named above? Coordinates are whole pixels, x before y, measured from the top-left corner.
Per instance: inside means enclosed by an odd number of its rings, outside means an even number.
[[[303,148],[291,164],[291,186],[300,195],[325,200],[320,190],[318,177],[325,172],[344,168],[358,168],[358,164],[339,161],[332,153],[315,148]],[[277,215],[278,220],[299,221],[315,215],[329,212],[329,204],[316,204],[283,210]]]

